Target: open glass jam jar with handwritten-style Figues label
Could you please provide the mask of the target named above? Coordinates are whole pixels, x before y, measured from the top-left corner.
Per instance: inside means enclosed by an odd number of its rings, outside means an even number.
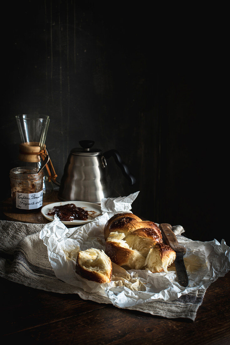
[[[17,213],[33,213],[42,208],[43,172],[33,167],[10,170],[11,198]]]

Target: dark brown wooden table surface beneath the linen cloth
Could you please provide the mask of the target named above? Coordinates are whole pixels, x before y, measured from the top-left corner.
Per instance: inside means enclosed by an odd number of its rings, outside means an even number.
[[[53,193],[44,203],[55,200]],[[10,207],[6,200],[1,219],[19,220]],[[29,221],[25,218],[20,221]],[[31,222],[47,220],[35,214]],[[230,273],[207,289],[194,322],[85,301],[76,294],[33,289],[4,278],[0,282],[2,344],[230,344]]]

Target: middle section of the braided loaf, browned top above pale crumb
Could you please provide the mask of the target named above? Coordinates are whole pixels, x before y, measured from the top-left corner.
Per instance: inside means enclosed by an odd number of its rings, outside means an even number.
[[[162,236],[152,228],[141,228],[127,234],[125,240],[132,249],[138,250],[144,257],[147,257],[152,246],[162,243]]]

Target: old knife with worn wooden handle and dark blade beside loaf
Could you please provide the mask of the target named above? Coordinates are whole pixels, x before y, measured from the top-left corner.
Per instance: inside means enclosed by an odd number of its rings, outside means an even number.
[[[170,224],[160,224],[159,228],[161,230],[163,241],[170,246],[174,252],[176,252],[176,259],[174,261],[177,271],[177,277],[181,286],[188,286],[189,278],[184,266],[183,256],[186,253],[186,248],[179,245],[176,235],[172,231]]]

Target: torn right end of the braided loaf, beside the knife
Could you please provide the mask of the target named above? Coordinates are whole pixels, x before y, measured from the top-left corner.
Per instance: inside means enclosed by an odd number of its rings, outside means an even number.
[[[176,252],[164,243],[157,243],[149,250],[144,266],[152,273],[168,272],[167,268],[176,259]]]

